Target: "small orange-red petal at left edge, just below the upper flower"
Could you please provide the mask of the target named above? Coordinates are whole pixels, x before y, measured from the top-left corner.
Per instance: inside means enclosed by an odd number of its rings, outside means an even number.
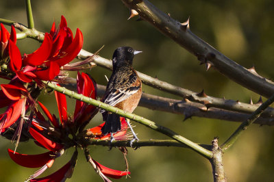
[[[12,101],[18,101],[21,99],[22,92],[27,92],[27,89],[22,84],[1,84],[1,88],[5,96]]]

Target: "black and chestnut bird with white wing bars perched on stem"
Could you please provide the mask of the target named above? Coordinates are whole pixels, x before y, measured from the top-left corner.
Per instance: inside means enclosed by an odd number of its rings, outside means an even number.
[[[108,85],[103,94],[102,101],[108,105],[123,109],[132,113],[137,107],[142,95],[142,81],[136,70],[132,67],[134,55],[142,51],[134,50],[132,47],[118,47],[112,56],[112,75],[108,80]],[[114,140],[113,134],[121,130],[120,116],[104,109],[100,110],[103,115],[105,125],[101,128],[103,135],[110,133],[110,142]],[[127,125],[134,135],[130,141],[132,143],[137,138],[136,133],[126,118]]]

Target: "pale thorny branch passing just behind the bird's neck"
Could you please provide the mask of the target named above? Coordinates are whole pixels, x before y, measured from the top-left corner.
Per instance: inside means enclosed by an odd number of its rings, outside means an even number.
[[[40,31],[37,31],[36,29],[29,29],[29,28],[25,27],[24,25],[15,23],[14,21],[8,21],[5,19],[0,19],[0,22],[5,23],[5,25],[14,25],[14,27],[21,30],[22,32],[17,34],[18,39],[33,38],[40,42],[44,39],[45,34]],[[82,49],[82,51],[78,55],[78,58],[84,60],[92,55],[94,55],[94,54],[89,53],[88,51],[85,51],[84,49]],[[99,55],[96,55],[94,57],[94,62],[95,62],[95,64],[102,66],[103,68],[108,68],[109,70],[112,69],[112,63],[110,62],[110,60],[100,57]],[[138,72],[138,75],[141,77],[142,82],[147,84],[148,86],[157,88],[157,89],[165,91],[165,92],[169,92],[171,94],[175,94],[177,96],[182,96],[183,98],[188,99],[189,101],[193,101],[195,103],[201,103],[203,105],[206,105],[206,107],[208,107],[208,108],[216,107],[216,108],[220,108],[220,109],[226,109],[229,111],[243,112],[243,113],[248,114],[248,113],[254,112],[259,106],[256,104],[253,105],[253,104],[247,104],[247,103],[240,103],[238,101],[233,101],[233,100],[219,99],[214,96],[208,96],[203,91],[200,93],[192,92],[191,90],[187,90],[185,88],[180,88],[178,86],[174,86],[171,83],[167,83],[165,81],[155,79],[153,77],[150,77],[149,75],[145,75],[140,72]],[[260,101],[259,101],[259,104],[260,104]],[[171,110],[171,109],[169,109],[169,110]],[[212,110],[214,110],[214,109],[211,109],[210,111],[212,111]],[[200,116],[204,117],[204,115],[205,114],[201,114]],[[274,109],[271,107],[267,108],[265,110],[264,114],[262,114],[262,116],[264,116],[264,117],[269,117],[269,116],[273,116],[273,115],[274,115]],[[195,115],[188,114],[188,116],[195,116]],[[242,117],[240,117],[240,121],[242,120]],[[219,118],[219,117],[217,117],[217,118]],[[225,118],[227,118],[226,114],[225,114],[225,116],[220,117],[220,119],[225,119]],[[230,117],[228,117],[228,118],[230,118]],[[225,120],[234,120],[234,119],[225,119]],[[269,124],[266,124],[266,122],[267,121],[264,121],[261,124],[269,125]]]

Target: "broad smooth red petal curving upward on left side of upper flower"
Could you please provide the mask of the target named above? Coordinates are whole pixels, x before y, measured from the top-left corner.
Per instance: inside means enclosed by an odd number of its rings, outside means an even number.
[[[23,58],[24,65],[38,66],[44,63],[51,53],[52,44],[51,35],[46,33],[41,46],[34,53],[28,54]]]

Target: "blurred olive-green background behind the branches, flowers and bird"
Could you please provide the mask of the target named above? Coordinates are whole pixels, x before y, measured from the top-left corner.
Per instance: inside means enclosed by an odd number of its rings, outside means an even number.
[[[151,1],[163,12],[180,22],[190,16],[190,29],[194,34],[206,40],[222,53],[250,68],[255,65],[260,75],[273,78],[273,8],[274,1],[232,0],[232,1]],[[173,40],[166,38],[145,21],[127,21],[129,10],[121,1],[62,0],[32,1],[35,26],[40,31],[49,31],[53,21],[59,22],[64,15],[69,27],[75,32],[79,27],[84,34],[84,49],[97,51],[105,47],[99,55],[111,58],[116,47],[132,46],[143,51],[134,59],[134,67],[142,73],[158,77],[176,86],[195,92],[202,89],[211,96],[223,97],[247,102],[252,96],[258,100],[258,94],[242,88],[214,69],[206,72],[199,66],[197,58],[179,47]],[[26,24],[24,1],[1,0],[0,18]],[[10,29],[8,27],[8,29]],[[27,39],[18,41],[21,53],[31,53],[39,43]],[[104,75],[110,71],[103,68],[87,70],[97,83],[106,84]],[[70,73],[75,77],[75,73]],[[1,80],[3,83],[3,80]],[[174,99],[177,96],[160,92],[144,86],[143,91]],[[51,99],[49,99],[49,97]],[[40,100],[51,112],[56,113],[53,94],[42,94]],[[69,110],[73,113],[75,101],[71,101]],[[205,118],[192,118],[183,122],[184,116],[157,112],[138,107],[134,112],[149,118],[160,125],[169,127],[184,137],[203,144],[219,136],[220,142],[238,127],[239,123]],[[101,123],[98,115],[92,126]],[[134,123],[135,124],[135,123]],[[142,139],[169,139],[165,135],[151,131],[142,125],[135,127]],[[273,128],[252,125],[236,144],[224,156],[224,166],[228,181],[273,181]],[[14,149],[14,144],[0,138],[0,181],[23,181],[36,169],[23,168],[14,164],[8,157],[7,148]],[[129,179],[119,181],[213,181],[210,163],[195,152],[185,148],[142,147],[134,151],[128,148]],[[21,143],[19,153],[42,153],[42,149],[32,142]],[[69,150],[55,161],[52,168],[44,174],[51,174],[72,155]],[[113,148],[90,146],[90,153],[101,164],[117,170],[125,168],[123,155]],[[101,181],[91,166],[79,153],[79,160],[68,181]],[[114,180],[115,181],[115,180]],[[116,180],[118,181],[118,180]]]

